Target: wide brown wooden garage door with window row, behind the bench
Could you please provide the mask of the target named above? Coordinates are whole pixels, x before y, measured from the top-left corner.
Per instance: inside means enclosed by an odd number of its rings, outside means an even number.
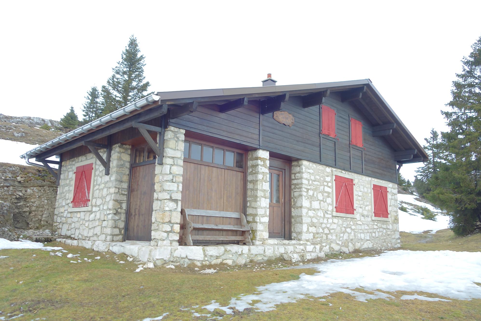
[[[241,150],[186,140],[182,208],[244,213],[245,158],[246,154]],[[237,224],[233,218],[199,217],[198,219],[199,221],[195,223]],[[193,233],[203,235],[204,231],[193,231]],[[234,236],[237,232],[209,231],[208,234]]]

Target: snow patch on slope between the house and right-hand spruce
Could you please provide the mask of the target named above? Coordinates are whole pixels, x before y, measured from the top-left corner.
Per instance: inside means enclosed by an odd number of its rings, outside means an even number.
[[[435,233],[436,231],[449,228],[449,216],[441,214],[440,210],[436,207],[419,202],[415,198],[418,198],[418,196],[397,194],[399,206],[404,205],[407,208],[407,212],[399,210],[399,231],[421,233],[431,230],[432,233]],[[408,204],[402,204],[401,202]],[[436,220],[424,219],[422,215],[414,212],[413,207],[409,204],[424,206],[432,212],[438,213]]]

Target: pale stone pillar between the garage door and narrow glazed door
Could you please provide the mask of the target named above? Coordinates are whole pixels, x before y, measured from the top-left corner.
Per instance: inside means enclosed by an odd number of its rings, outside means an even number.
[[[261,149],[247,159],[247,223],[253,244],[269,238],[269,152]]]

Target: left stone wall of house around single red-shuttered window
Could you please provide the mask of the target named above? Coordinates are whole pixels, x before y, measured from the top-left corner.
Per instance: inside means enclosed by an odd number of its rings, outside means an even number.
[[[99,153],[105,157],[105,150]],[[75,169],[80,162],[94,163],[91,209],[73,211]],[[130,146],[112,146],[110,175],[91,153],[62,163],[60,186],[55,205],[53,230],[80,240],[122,241],[127,208]]]

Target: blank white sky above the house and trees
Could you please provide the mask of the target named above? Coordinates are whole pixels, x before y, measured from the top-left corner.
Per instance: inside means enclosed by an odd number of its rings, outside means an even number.
[[[278,85],[370,78],[421,144],[443,130],[481,1],[332,2],[3,2],[0,113],[81,115],[134,34],[152,91],[260,86],[267,73]]]

